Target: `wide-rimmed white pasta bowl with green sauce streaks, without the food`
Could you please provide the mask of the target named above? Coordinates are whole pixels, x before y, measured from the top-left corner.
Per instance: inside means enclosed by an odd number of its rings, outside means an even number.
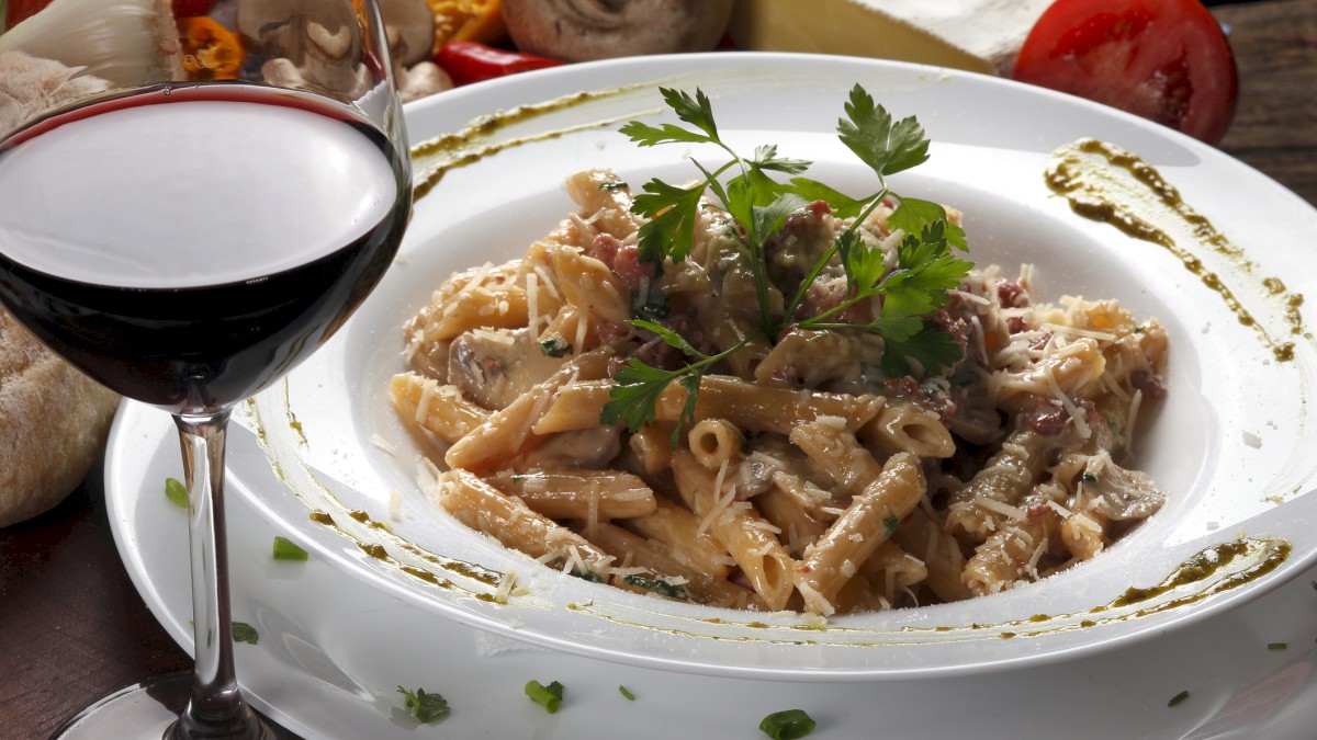
[[[857,82],[896,116],[919,117],[932,158],[898,175],[894,188],[964,211],[975,259],[1031,262],[1036,298],[1118,298],[1167,327],[1171,398],[1154,413],[1141,458],[1169,491],[1162,512],[1102,557],[1027,589],[839,618],[818,631],[794,615],[672,606],[569,578],[456,525],[425,500],[414,483],[416,450],[385,388],[402,369],[400,327],[450,271],[523,254],[572,207],[561,188],[570,172],[608,166],[633,182],[687,176],[690,151],[637,150],[615,130],[620,121],[657,115],[658,84],[709,92],[720,130],[741,149],[776,142],[784,155],[818,162],[820,179],[863,190],[861,169],[831,133]],[[561,103],[582,90],[595,93]],[[551,103],[481,125],[495,111],[541,101]],[[408,125],[414,142],[465,130],[465,146],[450,153],[445,175],[419,201],[399,263],[358,315],[286,384],[237,415],[265,454],[234,460],[230,475],[237,496],[317,560],[432,615],[433,629],[458,623],[578,656],[710,675],[944,677],[1072,660],[1163,635],[1280,585],[1317,557],[1306,524],[1317,508],[1308,494],[1317,477],[1317,458],[1308,454],[1317,441],[1306,404],[1317,367],[1310,337],[1299,337],[1295,361],[1277,362],[1180,258],[1075,216],[1043,182],[1050,153],[1080,137],[1138,153],[1243,249],[1251,265],[1222,278],[1270,327],[1264,278],[1281,275],[1295,292],[1317,292],[1305,255],[1292,249],[1317,230],[1317,212],[1212,147],[994,78],[769,54],[562,67],[433,97],[408,111]],[[444,153],[427,163],[436,159]],[[1209,266],[1220,257],[1214,248],[1184,246]],[[377,436],[396,450],[386,453]],[[390,521],[395,492],[400,516]],[[313,521],[311,510],[332,516],[333,527]],[[391,532],[371,525],[383,521]],[[1284,540],[1293,550],[1246,586],[1212,593],[1220,582],[1196,583],[1102,608],[1237,535]],[[531,595],[491,603],[494,583],[508,571]]]

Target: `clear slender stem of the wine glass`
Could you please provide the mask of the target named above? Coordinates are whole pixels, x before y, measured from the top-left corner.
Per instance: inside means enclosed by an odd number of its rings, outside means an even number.
[[[224,431],[229,411],[175,415],[187,485],[192,565],[192,697],[171,737],[261,737],[261,722],[242,700],[233,668],[229,561],[224,523]]]

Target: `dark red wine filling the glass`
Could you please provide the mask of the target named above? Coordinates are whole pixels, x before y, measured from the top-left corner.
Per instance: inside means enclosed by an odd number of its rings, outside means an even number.
[[[0,300],[120,394],[215,411],[279,378],[378,283],[410,167],[345,108],[157,88],[0,145]]]

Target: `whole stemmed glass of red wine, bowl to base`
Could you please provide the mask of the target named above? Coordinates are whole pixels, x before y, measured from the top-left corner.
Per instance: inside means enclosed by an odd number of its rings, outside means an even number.
[[[169,686],[138,686],[62,733],[273,737],[234,673],[225,424],[342,325],[398,250],[411,169],[390,36],[375,0],[191,3],[205,14],[182,18],[169,0],[78,3],[42,13],[125,14],[107,29],[149,13],[155,59],[88,66],[78,99],[0,140],[0,300],[92,378],[173,415],[196,664],[180,715],[153,698]],[[61,30],[51,17],[25,21],[33,54],[41,22]]]

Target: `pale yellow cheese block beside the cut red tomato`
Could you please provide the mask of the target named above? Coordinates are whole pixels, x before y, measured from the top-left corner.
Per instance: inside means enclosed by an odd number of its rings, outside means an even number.
[[[1009,76],[1052,0],[738,0],[739,49],[919,62]]]

